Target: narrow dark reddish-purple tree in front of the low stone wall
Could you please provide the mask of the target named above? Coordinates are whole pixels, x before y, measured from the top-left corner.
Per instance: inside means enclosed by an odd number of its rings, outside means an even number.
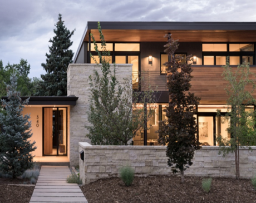
[[[181,182],[184,182],[184,171],[193,164],[194,151],[201,148],[195,136],[198,126],[194,117],[195,107],[199,104],[200,98],[188,92],[193,71],[191,63],[188,63],[190,56],[186,57],[187,63],[182,62],[181,56],[174,55],[179,47],[178,40],[171,38],[170,34],[166,37],[169,37],[165,53],[168,54],[170,61],[165,65],[168,66],[167,85],[170,102],[165,110],[167,119],[160,122],[158,142],[160,145],[167,144],[168,166],[171,167],[173,174],[180,171]]]

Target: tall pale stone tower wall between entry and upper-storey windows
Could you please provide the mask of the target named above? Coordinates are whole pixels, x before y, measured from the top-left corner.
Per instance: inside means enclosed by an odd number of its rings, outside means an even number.
[[[79,164],[78,142],[90,142],[86,137],[88,133],[85,125],[89,125],[87,114],[90,96],[89,76],[93,76],[94,70],[101,72],[101,66],[89,63],[72,63],[67,69],[67,96],[75,95],[78,98],[76,106],[70,107],[70,165],[75,166]],[[113,70],[114,65],[111,65]],[[131,64],[117,64],[116,77],[121,85],[124,84],[124,78],[131,78],[132,65]],[[132,91],[132,87],[131,87]]]

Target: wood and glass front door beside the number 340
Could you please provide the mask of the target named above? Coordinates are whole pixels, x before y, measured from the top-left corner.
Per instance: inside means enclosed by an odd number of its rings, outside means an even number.
[[[43,108],[43,155],[67,156],[67,107]]]

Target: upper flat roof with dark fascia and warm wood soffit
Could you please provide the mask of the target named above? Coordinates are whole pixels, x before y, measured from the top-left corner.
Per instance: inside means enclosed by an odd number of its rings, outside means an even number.
[[[73,62],[83,42],[92,33],[101,41],[96,21],[89,21]],[[179,42],[256,42],[256,22],[100,22],[106,42],[166,42],[171,33]],[[114,32],[113,32],[114,31]]]

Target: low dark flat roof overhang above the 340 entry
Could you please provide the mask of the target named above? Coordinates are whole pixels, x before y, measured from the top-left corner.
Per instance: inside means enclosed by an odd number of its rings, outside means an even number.
[[[21,97],[22,101],[29,98],[28,105],[65,105],[75,106],[78,97],[75,96],[62,96],[62,97]],[[7,97],[2,97],[7,100]]]

